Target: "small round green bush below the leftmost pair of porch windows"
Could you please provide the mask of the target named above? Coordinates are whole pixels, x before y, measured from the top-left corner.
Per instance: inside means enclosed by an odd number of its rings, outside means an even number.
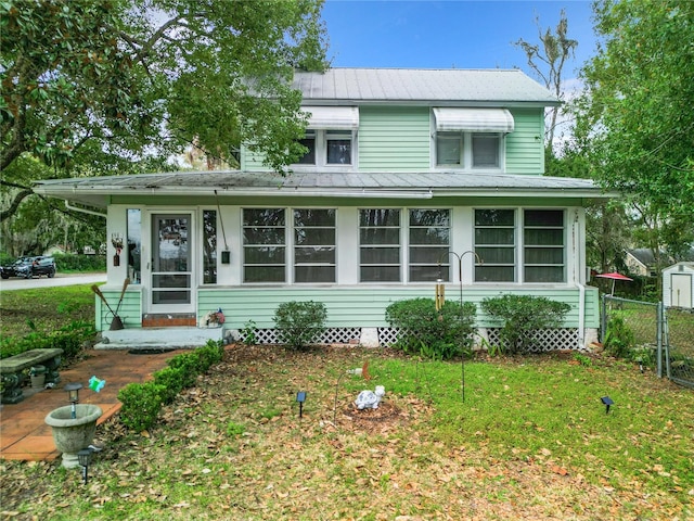
[[[314,342],[324,331],[327,312],[322,302],[285,302],[274,312],[280,341],[293,350]]]

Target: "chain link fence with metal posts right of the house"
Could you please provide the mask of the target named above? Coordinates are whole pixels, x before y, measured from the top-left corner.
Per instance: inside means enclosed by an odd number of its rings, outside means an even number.
[[[621,343],[635,361],[655,363],[658,377],[694,387],[693,310],[603,295],[601,340]]]

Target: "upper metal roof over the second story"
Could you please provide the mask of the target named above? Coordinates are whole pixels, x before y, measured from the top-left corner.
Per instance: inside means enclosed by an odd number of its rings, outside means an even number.
[[[306,104],[400,101],[451,106],[560,104],[519,69],[330,68],[296,72]],[[319,103],[320,102],[320,103]]]

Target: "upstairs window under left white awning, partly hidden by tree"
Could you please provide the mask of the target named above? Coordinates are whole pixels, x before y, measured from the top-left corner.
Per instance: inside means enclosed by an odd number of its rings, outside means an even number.
[[[355,164],[359,110],[356,106],[305,106],[310,114],[306,137],[308,152],[299,165],[350,166]]]

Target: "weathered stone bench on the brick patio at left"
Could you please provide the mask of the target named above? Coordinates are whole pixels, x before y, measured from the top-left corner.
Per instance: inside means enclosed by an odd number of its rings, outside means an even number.
[[[46,366],[46,383],[56,384],[61,381],[57,367],[61,365],[63,350],[29,350],[18,355],[0,359],[0,378],[2,378],[2,403],[17,404],[24,399],[22,384],[25,369],[34,366]]]

